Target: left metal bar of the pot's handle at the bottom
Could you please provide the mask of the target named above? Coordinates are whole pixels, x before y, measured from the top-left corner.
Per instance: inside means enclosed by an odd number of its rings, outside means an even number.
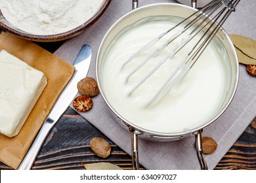
[[[131,131],[131,161],[133,165],[133,170],[139,170],[140,165],[139,165],[138,135],[140,134],[140,131],[133,129],[132,127],[129,127],[129,130]]]

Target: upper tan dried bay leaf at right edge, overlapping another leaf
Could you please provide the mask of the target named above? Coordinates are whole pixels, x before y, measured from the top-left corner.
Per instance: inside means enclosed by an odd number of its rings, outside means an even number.
[[[242,35],[229,35],[234,46],[251,59],[256,59],[256,41]]]

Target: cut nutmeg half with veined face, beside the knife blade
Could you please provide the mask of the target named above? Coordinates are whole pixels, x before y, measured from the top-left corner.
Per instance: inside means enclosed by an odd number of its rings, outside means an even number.
[[[93,100],[87,95],[81,95],[74,99],[73,107],[79,112],[85,112],[93,106]]]

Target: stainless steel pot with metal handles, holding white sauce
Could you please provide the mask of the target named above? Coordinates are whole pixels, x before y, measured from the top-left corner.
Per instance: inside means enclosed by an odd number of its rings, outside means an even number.
[[[175,3],[158,3],[153,5],[147,5],[144,7],[137,8],[138,1],[133,1],[133,8],[136,8],[135,10],[132,10],[131,12],[125,14],[122,16],[117,22],[110,27],[106,35],[104,36],[104,39],[102,40],[100,47],[98,49],[98,54],[96,56],[96,79],[100,88],[100,92],[102,93],[102,97],[106,101],[108,107],[117,115],[117,117],[125,124],[127,125],[129,131],[131,131],[131,156],[133,160],[133,169],[139,169],[139,154],[138,154],[138,137],[146,139],[148,141],[159,141],[159,142],[167,142],[167,141],[176,141],[180,140],[184,137],[188,137],[190,135],[195,135],[196,140],[196,152],[198,155],[198,160],[200,162],[201,169],[207,169],[207,164],[202,156],[202,131],[203,128],[207,125],[214,122],[221,114],[223,114],[224,110],[228,107],[230,102],[232,101],[232,98],[234,97],[234,93],[236,92],[236,88],[238,85],[238,58],[236,56],[236,52],[234,50],[234,46],[230,39],[228,38],[228,35],[226,32],[221,29],[219,33],[217,33],[217,37],[219,40],[224,44],[224,47],[226,48],[226,52],[228,54],[229,63],[230,63],[230,88],[227,92],[226,98],[224,99],[223,105],[221,108],[219,108],[219,112],[215,115],[214,118],[211,120],[203,123],[203,125],[200,125],[191,131],[181,131],[179,133],[158,133],[154,131],[150,131],[148,129],[144,129],[138,125],[133,124],[133,122],[130,122],[123,118],[118,112],[112,107],[112,102],[108,101],[105,93],[104,93],[104,87],[102,86],[102,62],[104,61],[103,56],[105,54],[106,49],[108,48],[108,45],[114,37],[116,37],[117,33],[119,33],[122,29],[127,27],[127,25],[131,25],[138,20],[141,20],[142,18],[146,18],[148,16],[179,16],[179,17],[187,17],[192,12],[196,11],[194,8],[186,7],[184,5],[175,4]]]

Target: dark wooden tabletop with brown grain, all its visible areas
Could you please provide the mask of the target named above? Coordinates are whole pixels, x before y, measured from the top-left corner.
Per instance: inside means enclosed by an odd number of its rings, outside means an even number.
[[[37,44],[53,53],[63,43],[64,41]],[[103,137],[110,142],[112,153],[108,158],[98,158],[93,153],[89,147],[93,137]],[[47,137],[32,169],[85,169],[81,163],[95,162],[110,162],[123,169],[131,169],[129,154],[68,107]],[[0,162],[0,170],[4,169],[11,167]],[[256,117],[215,169],[256,169]]]

